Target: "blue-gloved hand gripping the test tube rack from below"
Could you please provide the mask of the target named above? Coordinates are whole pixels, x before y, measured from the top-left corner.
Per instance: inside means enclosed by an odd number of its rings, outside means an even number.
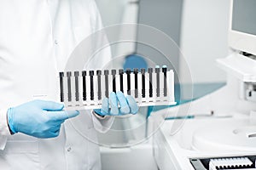
[[[118,107],[120,105],[120,108]],[[111,109],[109,109],[109,105]],[[102,100],[102,109],[94,110],[96,114],[101,116],[122,116],[127,114],[137,114],[138,106],[131,95],[126,96],[122,92],[114,92],[109,94],[109,99]]]

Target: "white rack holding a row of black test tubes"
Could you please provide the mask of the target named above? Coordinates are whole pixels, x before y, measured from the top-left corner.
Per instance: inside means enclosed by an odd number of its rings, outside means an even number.
[[[164,66],[142,69],[60,72],[61,102],[100,107],[110,92],[132,95],[143,105],[174,105],[173,71]],[[74,95],[73,95],[74,94]]]

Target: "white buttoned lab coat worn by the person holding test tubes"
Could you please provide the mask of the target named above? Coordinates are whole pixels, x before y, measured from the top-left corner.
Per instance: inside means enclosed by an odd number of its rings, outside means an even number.
[[[34,96],[58,101],[58,72],[101,27],[93,0],[0,0],[0,169],[101,168],[96,129],[105,131],[112,118],[81,111],[55,139],[10,135],[6,120],[9,107]],[[109,57],[108,51],[98,64]]]

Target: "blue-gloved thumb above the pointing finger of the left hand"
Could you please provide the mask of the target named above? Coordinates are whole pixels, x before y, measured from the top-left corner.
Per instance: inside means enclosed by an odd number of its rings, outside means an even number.
[[[34,102],[44,111],[61,111],[64,105],[46,100],[34,100]]]

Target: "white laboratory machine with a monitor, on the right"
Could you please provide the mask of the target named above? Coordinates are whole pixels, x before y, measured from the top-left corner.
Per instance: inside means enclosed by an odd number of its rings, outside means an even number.
[[[190,107],[154,134],[160,170],[256,169],[256,1],[232,0],[230,5],[233,53],[217,59],[227,84],[191,103],[154,113],[168,111],[173,117]]]

